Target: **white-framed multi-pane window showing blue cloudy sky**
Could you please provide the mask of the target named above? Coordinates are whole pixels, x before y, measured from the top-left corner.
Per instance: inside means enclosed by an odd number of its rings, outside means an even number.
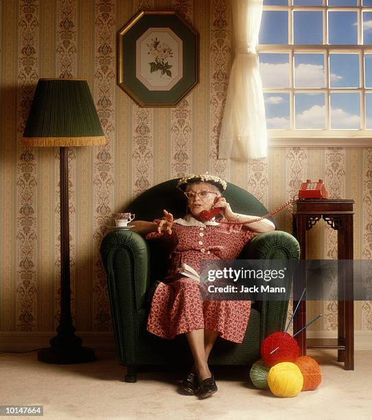
[[[270,137],[372,137],[372,0],[264,0]]]

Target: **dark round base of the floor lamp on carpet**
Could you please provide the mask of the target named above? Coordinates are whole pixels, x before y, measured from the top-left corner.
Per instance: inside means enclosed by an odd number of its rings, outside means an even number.
[[[38,361],[55,364],[93,362],[94,351],[88,347],[46,347],[38,351]]]

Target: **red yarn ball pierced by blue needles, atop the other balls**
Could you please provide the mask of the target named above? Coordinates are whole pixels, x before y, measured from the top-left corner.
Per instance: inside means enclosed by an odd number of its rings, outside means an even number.
[[[277,347],[279,348],[271,353]],[[288,333],[276,332],[270,334],[261,344],[261,357],[269,366],[274,366],[281,362],[294,363],[299,355],[300,349],[297,341]]]

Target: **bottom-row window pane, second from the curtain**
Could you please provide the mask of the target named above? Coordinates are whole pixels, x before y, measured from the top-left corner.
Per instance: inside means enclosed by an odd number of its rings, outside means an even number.
[[[294,94],[295,128],[325,128],[324,93]]]

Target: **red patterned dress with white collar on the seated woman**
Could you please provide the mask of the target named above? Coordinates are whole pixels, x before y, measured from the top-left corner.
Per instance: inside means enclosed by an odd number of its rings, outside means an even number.
[[[242,225],[199,222],[187,215],[177,219],[172,235],[152,232],[146,239],[156,239],[170,247],[169,277],[159,283],[152,299],[147,329],[162,338],[174,338],[194,329],[213,329],[233,342],[242,342],[251,301],[203,301],[200,283],[181,277],[178,268],[186,263],[200,272],[205,259],[235,259],[254,236]]]

